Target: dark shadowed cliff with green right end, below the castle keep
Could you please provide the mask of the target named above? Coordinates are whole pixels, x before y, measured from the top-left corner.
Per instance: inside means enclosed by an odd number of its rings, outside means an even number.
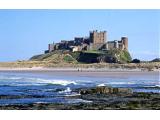
[[[81,52],[79,62],[86,63],[127,63],[132,60],[128,51],[125,50],[109,50],[105,52]]]

